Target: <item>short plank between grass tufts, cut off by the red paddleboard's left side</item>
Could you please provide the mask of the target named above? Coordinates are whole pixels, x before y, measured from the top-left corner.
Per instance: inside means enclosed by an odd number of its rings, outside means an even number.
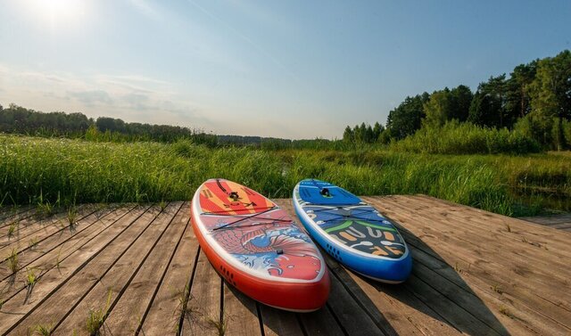
[[[218,335],[213,323],[219,322],[222,278],[200,250],[188,305],[192,314],[183,320],[181,335]]]

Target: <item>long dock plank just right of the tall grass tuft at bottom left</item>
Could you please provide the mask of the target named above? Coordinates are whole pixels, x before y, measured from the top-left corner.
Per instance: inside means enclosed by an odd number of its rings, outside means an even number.
[[[179,202],[178,205],[182,206],[183,203]],[[153,296],[159,289],[161,281],[169,269],[170,260],[177,250],[178,243],[182,239],[185,230],[190,230],[187,224],[188,215],[186,211],[181,210],[179,207],[169,227],[164,231],[160,240],[155,243],[153,250],[150,251],[136,273],[131,276],[127,289],[124,290],[119,301],[105,320],[107,328],[113,334],[133,334],[139,330],[139,326],[145,320],[149,306],[153,303]],[[112,276],[110,280],[112,279],[112,281],[117,283],[116,278],[116,276]],[[81,322],[83,321],[79,319],[78,323],[80,324]],[[67,331],[70,330],[67,329]],[[65,332],[66,329],[62,329],[62,331]],[[173,332],[176,332],[176,330],[173,330]]]

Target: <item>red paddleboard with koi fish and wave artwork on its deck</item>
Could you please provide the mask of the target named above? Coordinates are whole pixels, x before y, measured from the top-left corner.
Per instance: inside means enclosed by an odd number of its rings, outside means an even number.
[[[194,234],[227,283],[263,304],[296,312],[323,307],[327,267],[316,245],[260,193],[210,179],[194,193]]]

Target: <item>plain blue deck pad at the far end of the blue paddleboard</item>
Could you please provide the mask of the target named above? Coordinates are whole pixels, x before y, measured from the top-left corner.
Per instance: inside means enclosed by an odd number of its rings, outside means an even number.
[[[329,191],[329,196],[325,196],[321,193],[323,189]],[[300,182],[299,192],[302,200],[311,204],[356,205],[361,202],[359,197],[335,184],[314,179],[306,179]]]

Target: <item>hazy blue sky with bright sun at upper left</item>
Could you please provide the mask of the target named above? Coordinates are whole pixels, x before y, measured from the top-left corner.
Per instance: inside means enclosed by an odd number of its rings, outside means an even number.
[[[0,104],[339,138],[571,49],[571,2],[0,0]]]

